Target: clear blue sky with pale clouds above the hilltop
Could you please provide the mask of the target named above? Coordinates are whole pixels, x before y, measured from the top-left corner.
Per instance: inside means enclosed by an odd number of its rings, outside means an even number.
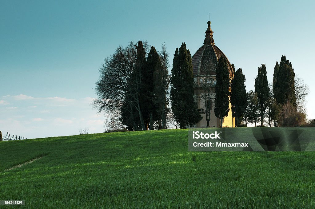
[[[215,44],[254,89],[265,63],[268,81],[282,55],[309,85],[315,118],[313,1],[2,1],[0,7],[0,130],[27,138],[104,131],[104,115],[89,105],[98,69],[119,46],[139,40],[172,63],[186,42],[203,44],[208,13]],[[169,69],[170,71],[170,69]]]

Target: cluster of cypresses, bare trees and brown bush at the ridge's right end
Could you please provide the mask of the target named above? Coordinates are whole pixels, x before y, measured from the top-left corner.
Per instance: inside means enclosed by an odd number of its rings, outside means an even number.
[[[268,83],[266,65],[258,68],[255,79],[255,91],[247,92],[247,103],[243,120],[247,123],[267,123],[270,127],[300,126],[306,121],[304,108],[308,86],[300,77],[295,76],[294,69],[285,56],[274,67],[272,84]]]

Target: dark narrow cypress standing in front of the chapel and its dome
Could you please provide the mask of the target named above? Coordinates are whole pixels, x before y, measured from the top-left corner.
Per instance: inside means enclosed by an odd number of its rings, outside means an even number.
[[[229,69],[224,56],[221,56],[216,67],[215,84],[215,116],[220,118],[220,127],[223,125],[223,118],[229,113]]]

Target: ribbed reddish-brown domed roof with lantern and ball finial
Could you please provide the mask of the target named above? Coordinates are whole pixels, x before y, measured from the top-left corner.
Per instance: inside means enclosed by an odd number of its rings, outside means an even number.
[[[234,71],[230,61],[225,54],[215,46],[213,39],[213,31],[210,28],[211,22],[208,21],[208,28],[204,44],[197,52],[192,55],[192,69],[194,76],[213,75],[215,76],[215,68],[218,65],[218,60],[224,56],[228,62],[230,77],[234,77]]]

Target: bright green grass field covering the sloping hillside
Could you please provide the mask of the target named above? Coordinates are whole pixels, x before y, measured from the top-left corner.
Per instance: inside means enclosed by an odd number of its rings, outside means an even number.
[[[187,134],[1,142],[0,200],[25,200],[19,208],[315,208],[314,152],[188,152]]]

